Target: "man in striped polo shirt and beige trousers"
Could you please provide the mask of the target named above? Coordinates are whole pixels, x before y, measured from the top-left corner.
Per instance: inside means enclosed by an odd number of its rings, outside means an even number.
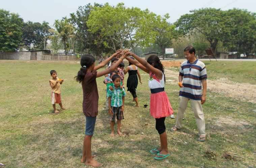
[[[171,130],[176,131],[182,127],[182,118],[190,100],[199,132],[198,140],[203,142],[205,141],[205,122],[202,104],[206,99],[207,74],[204,63],[196,59],[195,53],[193,46],[184,49],[187,61],[181,64],[179,70],[179,108],[176,125]]]

